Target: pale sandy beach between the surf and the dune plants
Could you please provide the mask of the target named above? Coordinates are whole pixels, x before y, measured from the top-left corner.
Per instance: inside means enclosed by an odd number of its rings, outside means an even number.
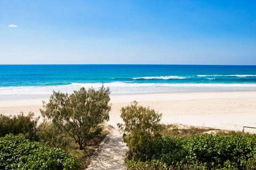
[[[0,100],[0,113],[15,115],[33,111],[40,116],[39,108],[47,98]],[[162,123],[180,123],[242,131],[243,126],[256,126],[256,91],[241,92],[189,92],[158,94],[111,95],[111,112],[108,124],[121,122],[120,109],[136,100],[162,113]],[[42,120],[42,119],[41,119]]]

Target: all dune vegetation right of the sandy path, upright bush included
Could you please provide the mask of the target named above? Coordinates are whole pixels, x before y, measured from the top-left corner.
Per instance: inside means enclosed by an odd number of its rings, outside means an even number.
[[[178,131],[178,125],[161,125],[161,114],[138,106],[137,102],[123,107],[121,112],[124,124],[119,124],[119,129],[130,150],[128,169],[256,167],[255,134],[205,127]]]

